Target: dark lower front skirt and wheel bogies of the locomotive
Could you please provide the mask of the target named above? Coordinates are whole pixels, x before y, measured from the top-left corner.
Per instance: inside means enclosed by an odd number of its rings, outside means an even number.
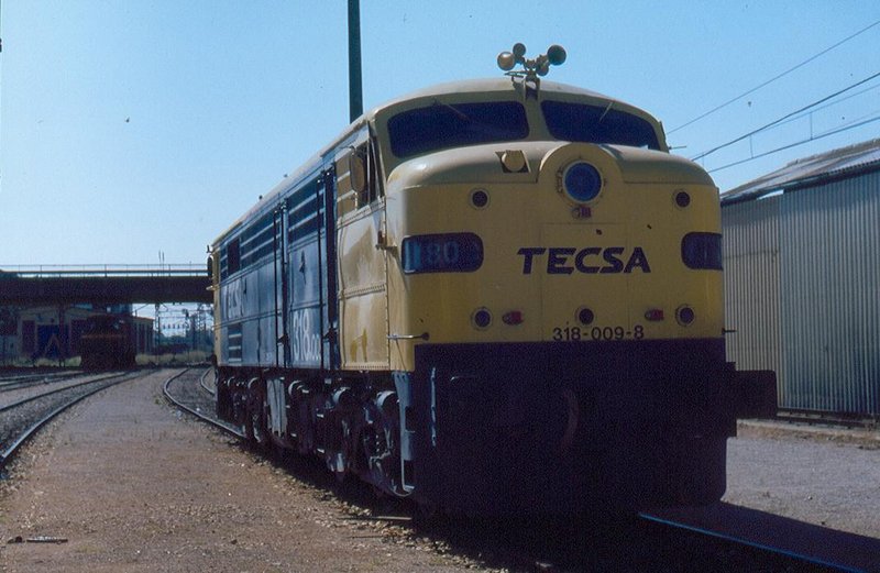
[[[725,491],[741,374],[724,341],[420,344],[415,372],[222,367],[256,444],[446,513],[700,505]]]

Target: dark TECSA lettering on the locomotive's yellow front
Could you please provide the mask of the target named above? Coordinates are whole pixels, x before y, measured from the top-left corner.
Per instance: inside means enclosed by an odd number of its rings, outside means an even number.
[[[542,265],[547,257],[548,275],[570,275],[579,273],[609,274],[631,273],[639,268],[642,273],[650,273],[651,266],[648,257],[640,246],[632,249],[627,256],[624,246],[587,246],[581,250],[568,246],[524,246],[517,251],[522,255],[522,274],[530,275],[536,264]],[[626,261],[626,263],[624,262]]]

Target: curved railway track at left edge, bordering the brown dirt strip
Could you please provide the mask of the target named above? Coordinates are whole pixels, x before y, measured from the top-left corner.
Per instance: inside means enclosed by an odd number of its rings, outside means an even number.
[[[138,373],[88,377],[81,383],[33,393],[0,407],[0,469],[19,448],[50,420],[70,406],[116,384],[140,376]]]

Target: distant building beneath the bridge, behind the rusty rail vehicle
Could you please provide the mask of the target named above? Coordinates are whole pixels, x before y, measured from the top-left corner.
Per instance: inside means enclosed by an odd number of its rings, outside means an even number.
[[[95,308],[0,307],[0,365],[62,361],[79,355],[86,319],[105,313],[130,315],[131,306]],[[132,317],[139,354],[153,352],[153,320]],[[61,327],[63,324],[63,327]]]

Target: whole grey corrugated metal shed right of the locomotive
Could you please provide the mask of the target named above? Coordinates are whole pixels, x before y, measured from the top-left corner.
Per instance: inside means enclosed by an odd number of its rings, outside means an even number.
[[[779,406],[880,417],[880,140],[722,196],[727,334]]]

